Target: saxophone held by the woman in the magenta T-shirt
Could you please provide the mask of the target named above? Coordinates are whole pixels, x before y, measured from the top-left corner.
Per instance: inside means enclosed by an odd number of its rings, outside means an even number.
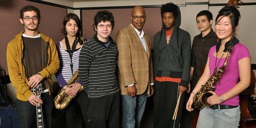
[[[207,98],[213,95],[213,93],[210,93],[209,91],[215,91],[216,88],[213,86],[214,83],[220,84],[221,74],[225,70],[226,63],[228,63],[228,58],[230,56],[231,51],[232,51],[232,46],[228,48],[228,54],[226,55],[226,59],[223,66],[221,66],[220,69],[218,69],[217,71],[214,71],[213,75],[211,75],[211,77],[206,82],[206,84],[202,85],[202,88],[200,89],[200,91],[196,93],[195,99],[193,101],[196,109],[202,110],[205,106],[206,107],[212,106],[207,102]]]

